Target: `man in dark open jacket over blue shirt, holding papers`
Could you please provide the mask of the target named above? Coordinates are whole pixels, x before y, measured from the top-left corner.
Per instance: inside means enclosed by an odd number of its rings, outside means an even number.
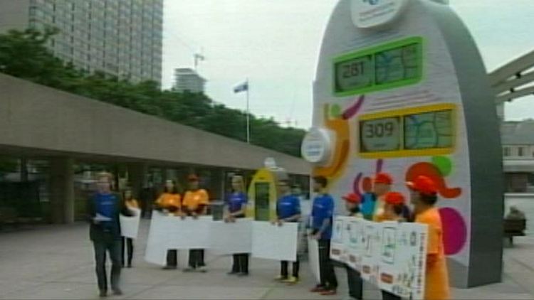
[[[111,259],[111,289],[113,294],[121,295],[119,287],[122,237],[120,235],[119,214],[132,216],[132,213],[117,195],[111,191],[112,175],[99,173],[97,177],[98,192],[88,201],[88,222],[90,223],[90,240],[95,248],[96,275],[100,297],[108,295],[108,280],[105,271],[105,256]]]

